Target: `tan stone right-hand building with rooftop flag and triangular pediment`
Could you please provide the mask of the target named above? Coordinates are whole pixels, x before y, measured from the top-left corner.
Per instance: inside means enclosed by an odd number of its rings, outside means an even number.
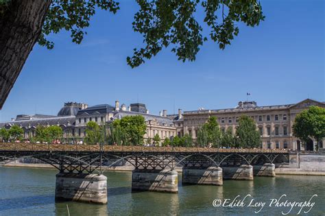
[[[239,117],[248,115],[254,119],[261,133],[263,148],[267,149],[293,149],[314,150],[315,141],[310,140],[302,143],[293,136],[292,125],[296,115],[309,106],[320,106],[325,108],[325,103],[313,99],[305,99],[297,104],[285,104],[276,106],[258,106],[255,101],[240,101],[236,108],[217,110],[194,110],[186,111],[182,115],[182,121],[176,125],[183,125],[178,132],[191,134],[193,139],[197,138],[197,130],[210,116],[217,117],[219,127],[222,131],[232,128],[236,131]],[[324,147],[323,142],[319,143]]]

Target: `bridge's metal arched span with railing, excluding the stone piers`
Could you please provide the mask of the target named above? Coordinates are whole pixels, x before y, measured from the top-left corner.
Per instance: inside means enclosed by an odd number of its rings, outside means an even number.
[[[94,173],[101,172],[101,167],[125,163],[136,169],[174,169],[177,166],[204,169],[210,166],[288,163],[289,152],[267,149],[0,143],[0,162],[10,163],[25,158],[41,160],[60,173]]]

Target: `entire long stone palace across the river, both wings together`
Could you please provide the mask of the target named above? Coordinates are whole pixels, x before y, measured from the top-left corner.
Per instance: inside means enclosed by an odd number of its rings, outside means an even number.
[[[217,118],[221,131],[228,128],[236,132],[239,117],[248,115],[256,122],[261,134],[261,147],[265,149],[293,149],[293,150],[315,150],[315,141],[310,140],[302,143],[293,136],[292,126],[298,113],[309,106],[320,106],[325,108],[325,103],[313,99],[305,99],[297,104],[285,104],[277,106],[258,106],[255,101],[240,101],[236,108],[184,111],[178,110],[177,115],[167,115],[167,110],[160,115],[149,114],[145,104],[119,105],[115,106],[100,104],[88,107],[87,104],[65,103],[57,116],[50,115],[17,115],[12,121],[0,123],[0,128],[9,129],[12,125],[19,125],[24,130],[24,138],[35,136],[38,125],[58,125],[64,132],[64,138],[84,139],[86,136],[86,124],[95,121],[99,125],[111,123],[115,119],[121,119],[130,115],[141,115],[145,118],[147,131],[145,140],[153,139],[156,134],[163,141],[165,138],[172,139],[175,136],[190,134],[195,141],[198,129],[206,123],[208,117]],[[322,141],[319,147],[324,147]]]

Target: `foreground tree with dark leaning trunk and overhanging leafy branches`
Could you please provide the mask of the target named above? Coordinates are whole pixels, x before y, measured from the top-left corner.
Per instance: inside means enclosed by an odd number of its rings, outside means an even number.
[[[224,49],[238,35],[239,22],[254,27],[264,20],[257,0],[136,2],[140,10],[134,15],[132,25],[134,32],[143,36],[145,45],[134,49],[133,56],[126,59],[131,67],[138,67],[169,46],[178,60],[193,61],[208,37]],[[200,5],[208,36],[202,35],[202,25],[195,19]],[[71,33],[73,43],[80,44],[97,8],[116,13],[119,3],[114,0],[0,1],[0,108],[35,43],[52,49],[53,43],[47,36],[66,30]]]

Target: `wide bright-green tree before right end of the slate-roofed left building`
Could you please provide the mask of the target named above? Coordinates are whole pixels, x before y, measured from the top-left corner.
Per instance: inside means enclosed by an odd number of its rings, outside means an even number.
[[[132,145],[142,145],[143,136],[147,125],[145,124],[145,118],[141,115],[126,116],[122,119],[116,119],[113,121],[113,125],[121,126],[121,129],[125,132],[126,141]]]

